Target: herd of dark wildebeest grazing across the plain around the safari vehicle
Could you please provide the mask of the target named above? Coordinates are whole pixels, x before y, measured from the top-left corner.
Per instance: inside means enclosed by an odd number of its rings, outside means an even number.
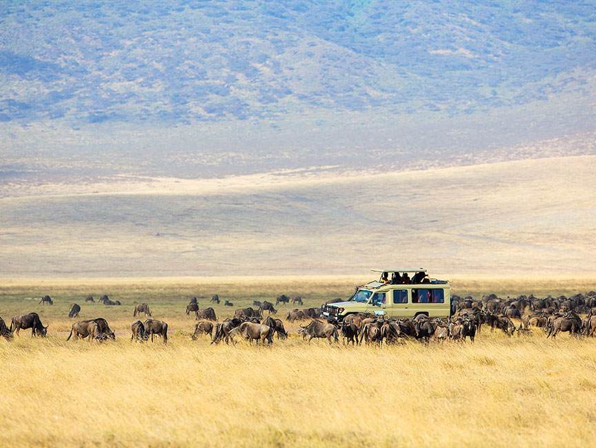
[[[329,300],[327,303],[337,302]],[[302,304],[300,297],[293,298],[292,303]],[[92,296],[86,302],[95,302]],[[107,295],[101,296],[99,302],[106,305],[119,305]],[[213,295],[210,302],[219,304],[219,295]],[[228,302],[226,300],[226,302]],[[281,295],[276,304],[285,306],[290,298]],[[41,298],[39,304],[53,304],[49,295]],[[274,318],[279,309],[275,309],[272,302],[253,302],[253,307],[237,309],[232,318],[217,322],[215,309],[212,307],[199,308],[197,298],[192,298],[186,306],[186,315],[195,313],[195,324],[191,339],[201,335],[208,335],[211,343],[225,341],[235,343],[237,339],[255,341],[257,344],[271,344],[274,335],[277,338],[288,338],[288,331],[284,321]],[[73,303],[68,313],[69,318],[77,318],[81,306]],[[133,317],[144,313],[148,319],[144,322],[137,320],[131,326],[131,340],[144,342],[161,337],[163,343],[168,342],[168,324],[161,320],[150,318],[151,312],[147,303],[136,304]],[[512,336],[516,332],[524,335],[530,332],[530,327],[537,327],[544,331],[546,338],[555,338],[560,332],[568,332],[578,338],[582,335],[594,336],[596,333],[596,292],[575,294],[567,298],[535,298],[533,295],[520,295],[517,298],[497,298],[496,295],[484,295],[481,300],[471,297],[460,298],[453,295],[451,301],[450,318],[428,318],[419,314],[415,318],[389,319],[385,316],[366,313],[350,314],[343,322],[327,322],[321,320],[320,308],[292,309],[286,315],[286,322],[304,322],[299,324],[299,335],[308,342],[313,338],[324,338],[330,344],[339,342],[339,336],[344,344],[393,344],[399,340],[419,340],[421,342],[459,340],[468,338],[474,341],[482,327],[490,327],[490,331],[503,331]],[[583,315],[583,317],[582,317]],[[514,323],[515,322],[517,323]],[[0,318],[0,336],[10,339],[14,332],[19,334],[21,329],[31,329],[32,336],[46,336],[48,326],[43,325],[37,313],[18,315],[12,318],[10,327]],[[72,329],[66,340],[70,338],[89,338],[90,342],[115,340],[115,333],[103,318],[81,320],[72,324]]]

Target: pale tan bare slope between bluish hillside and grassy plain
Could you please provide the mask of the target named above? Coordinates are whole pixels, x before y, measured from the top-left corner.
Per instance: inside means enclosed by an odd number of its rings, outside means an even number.
[[[0,276],[589,275],[595,164],[59,184],[0,199]]]

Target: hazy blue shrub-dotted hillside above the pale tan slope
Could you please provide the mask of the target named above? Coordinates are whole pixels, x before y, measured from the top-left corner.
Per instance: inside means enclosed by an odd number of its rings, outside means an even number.
[[[354,166],[596,122],[588,1],[5,1],[0,42],[3,175]]]

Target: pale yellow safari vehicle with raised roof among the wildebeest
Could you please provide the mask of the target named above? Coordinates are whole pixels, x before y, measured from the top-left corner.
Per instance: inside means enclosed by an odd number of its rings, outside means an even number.
[[[450,316],[450,286],[446,280],[428,278],[426,269],[371,269],[380,272],[378,281],[355,288],[346,302],[322,306],[321,317],[341,322],[352,313],[386,315],[389,318],[415,318],[419,314],[429,318]],[[398,283],[389,280],[399,273],[412,275],[416,283]]]

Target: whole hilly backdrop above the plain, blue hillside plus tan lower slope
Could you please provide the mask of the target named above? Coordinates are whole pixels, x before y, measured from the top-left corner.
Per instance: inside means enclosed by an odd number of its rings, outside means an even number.
[[[1,275],[593,273],[595,37],[593,2],[4,2]]]

